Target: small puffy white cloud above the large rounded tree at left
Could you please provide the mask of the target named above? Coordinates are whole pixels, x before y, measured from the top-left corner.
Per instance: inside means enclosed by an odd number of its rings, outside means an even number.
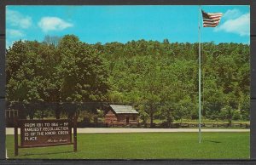
[[[72,27],[73,24],[61,20],[58,17],[43,17],[39,22],[38,26],[44,31],[62,31],[68,27]]]

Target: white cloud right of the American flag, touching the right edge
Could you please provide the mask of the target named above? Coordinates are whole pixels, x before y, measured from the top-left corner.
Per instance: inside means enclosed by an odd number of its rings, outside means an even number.
[[[236,33],[240,36],[250,35],[250,14],[241,14],[235,19],[224,21],[223,24],[215,28],[214,31],[226,31]]]

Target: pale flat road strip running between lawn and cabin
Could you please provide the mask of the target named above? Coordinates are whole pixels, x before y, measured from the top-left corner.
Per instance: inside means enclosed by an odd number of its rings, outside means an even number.
[[[201,129],[202,132],[250,132],[250,129]],[[18,131],[20,134],[20,130]],[[196,128],[78,128],[80,134],[96,133],[197,133]],[[6,128],[6,134],[14,134],[14,128]]]

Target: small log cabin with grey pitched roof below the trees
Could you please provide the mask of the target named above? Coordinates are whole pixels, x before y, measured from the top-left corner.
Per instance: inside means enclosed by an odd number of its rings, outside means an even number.
[[[109,105],[105,123],[109,126],[131,126],[138,124],[138,112],[130,105]]]

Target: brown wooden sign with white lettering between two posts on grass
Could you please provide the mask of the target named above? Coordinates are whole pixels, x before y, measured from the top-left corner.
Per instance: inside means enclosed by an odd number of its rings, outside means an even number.
[[[73,145],[77,151],[77,119],[15,120],[15,156],[18,148]],[[18,145],[20,128],[20,145]],[[73,142],[72,142],[73,128]]]

